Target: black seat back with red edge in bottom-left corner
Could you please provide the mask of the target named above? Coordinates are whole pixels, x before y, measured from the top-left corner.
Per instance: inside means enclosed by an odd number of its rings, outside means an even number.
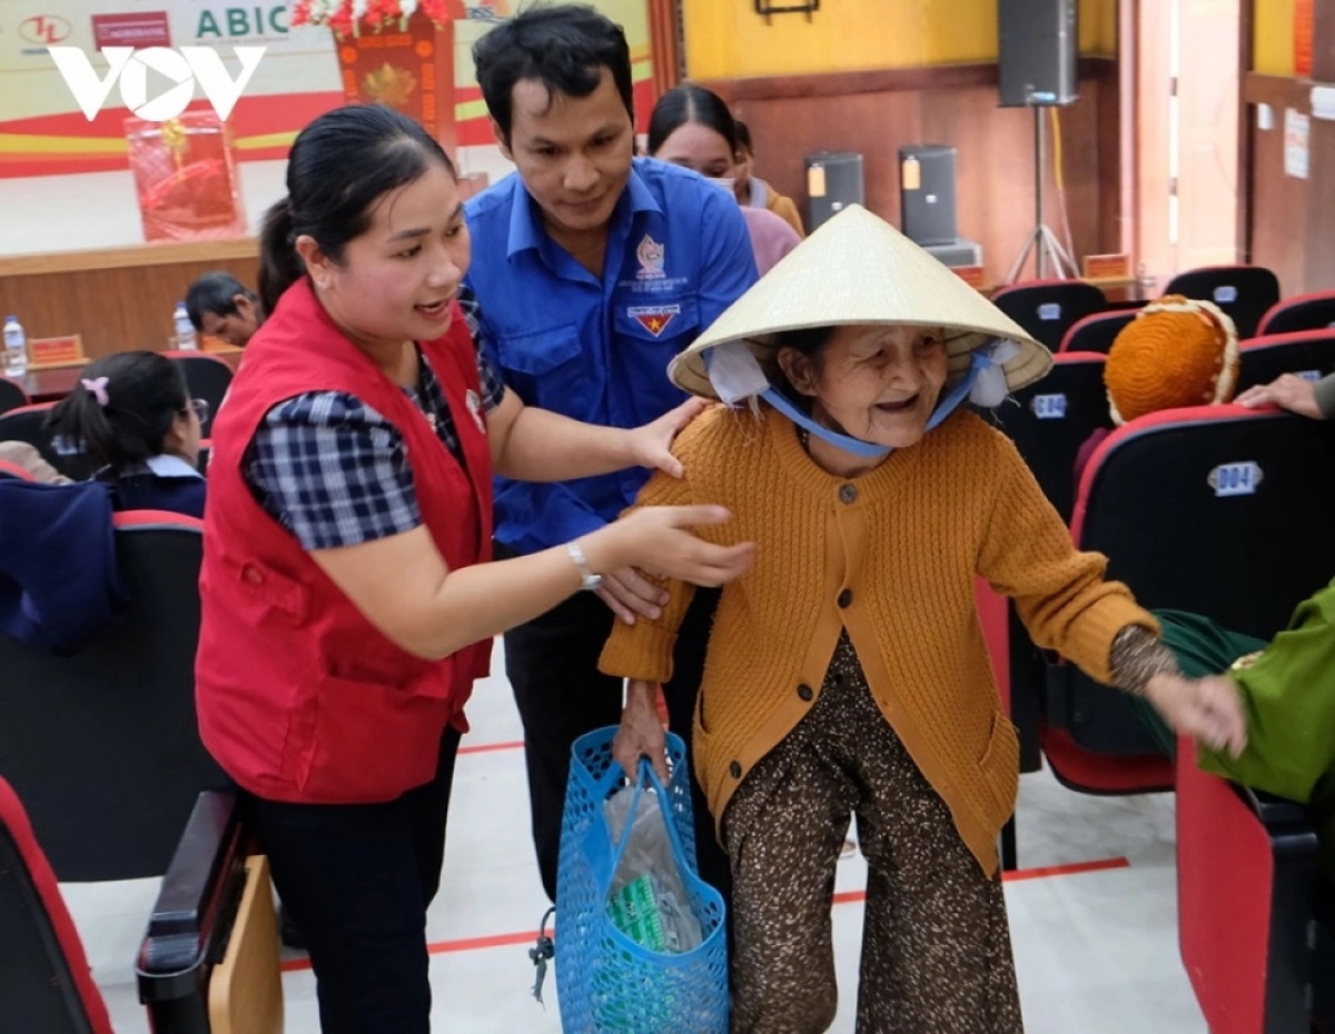
[[[112,1034],[56,877],[0,779],[0,1030]]]

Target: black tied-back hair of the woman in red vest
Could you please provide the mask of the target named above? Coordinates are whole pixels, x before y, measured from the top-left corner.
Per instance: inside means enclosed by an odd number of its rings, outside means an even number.
[[[342,262],[343,247],[370,227],[375,200],[417,181],[431,165],[455,175],[441,144],[394,108],[335,108],[302,129],[287,156],[287,197],[268,209],[260,232],[264,311],[272,312],[306,274],[296,253],[299,236],[314,237],[324,255]]]

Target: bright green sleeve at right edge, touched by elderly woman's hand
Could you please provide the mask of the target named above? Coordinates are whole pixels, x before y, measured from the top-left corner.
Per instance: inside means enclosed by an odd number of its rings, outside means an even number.
[[[1335,770],[1335,582],[1298,604],[1254,664],[1228,672],[1247,710],[1240,758],[1202,748],[1200,767],[1307,803]]]

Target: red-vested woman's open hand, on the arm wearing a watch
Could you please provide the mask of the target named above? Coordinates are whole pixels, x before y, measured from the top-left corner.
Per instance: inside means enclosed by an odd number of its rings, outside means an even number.
[[[647,506],[585,536],[581,546],[598,574],[638,567],[659,578],[721,586],[750,567],[756,544],[714,546],[689,528],[730,518],[721,506]]]

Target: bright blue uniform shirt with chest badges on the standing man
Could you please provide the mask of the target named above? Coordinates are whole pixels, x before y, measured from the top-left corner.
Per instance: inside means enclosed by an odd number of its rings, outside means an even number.
[[[470,199],[481,346],[527,406],[638,427],[685,395],[668,362],[756,279],[737,201],[694,172],[635,159],[607,227],[599,279],[551,240],[518,175]],[[535,552],[595,531],[649,471],[555,484],[495,479],[495,538]]]

